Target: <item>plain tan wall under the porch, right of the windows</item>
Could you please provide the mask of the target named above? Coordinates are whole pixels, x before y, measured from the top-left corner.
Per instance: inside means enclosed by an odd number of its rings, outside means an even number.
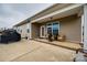
[[[61,25],[59,31],[66,35],[66,41],[76,43],[81,42],[81,18],[70,15],[58,21]]]

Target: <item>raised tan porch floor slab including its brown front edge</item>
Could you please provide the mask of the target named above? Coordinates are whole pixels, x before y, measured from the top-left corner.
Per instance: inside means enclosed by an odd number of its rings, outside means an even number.
[[[50,42],[46,39],[34,39],[34,40],[37,41],[37,42],[42,42],[42,43],[45,43],[45,44],[51,44],[51,45],[55,45],[55,46],[59,46],[59,47],[73,50],[73,51],[77,51],[78,48],[83,47],[81,44],[72,43],[72,42],[59,42],[59,41]]]

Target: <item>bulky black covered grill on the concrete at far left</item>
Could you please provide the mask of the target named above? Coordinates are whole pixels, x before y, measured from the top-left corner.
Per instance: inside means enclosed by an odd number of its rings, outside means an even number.
[[[0,43],[17,42],[21,40],[21,34],[15,30],[6,30],[1,32]]]

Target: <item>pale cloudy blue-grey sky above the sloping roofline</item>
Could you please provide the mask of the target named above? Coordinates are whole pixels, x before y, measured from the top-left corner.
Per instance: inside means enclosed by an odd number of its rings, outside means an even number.
[[[0,28],[14,24],[36,14],[53,3],[0,3]]]

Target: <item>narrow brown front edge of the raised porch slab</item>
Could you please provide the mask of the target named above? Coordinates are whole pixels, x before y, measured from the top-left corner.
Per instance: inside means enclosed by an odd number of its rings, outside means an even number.
[[[59,47],[68,48],[68,50],[73,50],[73,51],[77,51],[78,48],[81,48],[81,45],[80,45],[80,47],[75,48],[75,47],[70,47],[70,46],[54,44],[53,42],[48,42],[48,41],[41,41],[41,40],[35,40],[35,39],[34,39],[34,41],[42,42],[42,43],[46,43],[46,44],[51,44],[51,45],[54,45],[54,46],[59,46]]]

